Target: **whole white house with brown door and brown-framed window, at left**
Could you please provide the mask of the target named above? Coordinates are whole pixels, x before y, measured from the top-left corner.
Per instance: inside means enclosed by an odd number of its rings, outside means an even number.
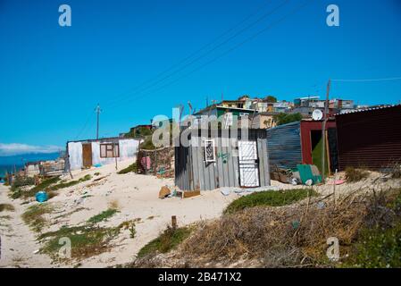
[[[87,139],[67,142],[66,170],[90,168],[97,164],[114,164],[135,159],[139,140],[122,138]]]

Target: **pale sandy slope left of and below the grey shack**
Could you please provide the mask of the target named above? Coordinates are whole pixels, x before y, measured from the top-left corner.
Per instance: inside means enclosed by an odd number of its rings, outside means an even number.
[[[119,163],[119,169],[130,163]],[[100,175],[95,176],[96,172],[100,172]],[[118,238],[113,240],[113,244],[116,246],[110,252],[82,261],[81,266],[83,267],[104,267],[128,263],[132,261],[140,248],[145,246],[148,241],[155,239],[167,224],[171,223],[171,215],[177,216],[179,226],[215,218],[220,216],[221,211],[230,201],[237,198],[234,194],[224,197],[219,190],[214,190],[203,192],[201,196],[195,198],[159,199],[158,193],[161,187],[165,185],[173,187],[172,179],[161,180],[154,176],[135,173],[119,175],[116,173],[114,165],[73,172],[74,180],[88,173],[93,176],[91,181],[61,189],[59,196],[49,200],[54,204],[55,211],[48,217],[52,225],[44,231],[56,231],[63,225],[85,223],[89,217],[106,210],[112,202],[118,204],[120,213],[115,214],[108,222],[101,223],[101,225],[112,227],[133,219],[140,219],[140,222],[136,226],[135,239],[129,238],[129,231],[121,231]],[[94,179],[102,177],[104,178],[94,181]],[[65,176],[63,179],[71,180],[71,177]],[[5,192],[6,189],[2,187],[2,201],[6,199],[10,202],[10,199],[6,198]],[[90,197],[83,198],[88,195]],[[21,256],[25,257],[27,266],[56,266],[50,265],[47,257],[32,254],[39,246],[35,244],[34,234],[21,222],[20,216],[23,210],[37,203],[31,202],[21,206],[21,200],[18,199],[14,200],[12,204],[18,209],[13,214],[10,224],[13,226],[13,233],[19,233],[19,236],[4,246],[4,248],[8,248],[5,250],[7,259],[2,261],[1,265],[13,266],[13,257],[18,255],[12,256],[9,248],[21,248],[23,249]],[[71,212],[73,213],[68,214]],[[63,214],[68,215],[54,219]]]

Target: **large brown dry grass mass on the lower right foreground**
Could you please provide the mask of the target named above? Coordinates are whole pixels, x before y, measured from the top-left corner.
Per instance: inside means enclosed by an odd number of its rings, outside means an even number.
[[[174,257],[192,265],[228,265],[244,258],[267,267],[332,266],[326,257],[327,240],[338,238],[341,256],[346,256],[363,226],[394,219],[388,217],[391,211],[384,211],[388,199],[383,194],[354,194],[337,199],[336,206],[330,198],[324,198],[324,204],[313,198],[295,206],[258,206],[225,214],[201,223]]]

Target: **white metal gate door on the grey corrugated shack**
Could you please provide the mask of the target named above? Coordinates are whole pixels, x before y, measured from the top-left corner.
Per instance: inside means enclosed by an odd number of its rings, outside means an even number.
[[[256,141],[238,141],[238,159],[240,186],[259,187]]]

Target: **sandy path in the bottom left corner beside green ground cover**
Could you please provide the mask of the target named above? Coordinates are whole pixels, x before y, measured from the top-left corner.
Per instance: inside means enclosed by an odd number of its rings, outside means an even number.
[[[36,253],[35,234],[22,222],[23,206],[7,196],[8,188],[0,185],[0,203],[13,205],[13,212],[0,213],[0,267],[52,267],[51,259]]]

